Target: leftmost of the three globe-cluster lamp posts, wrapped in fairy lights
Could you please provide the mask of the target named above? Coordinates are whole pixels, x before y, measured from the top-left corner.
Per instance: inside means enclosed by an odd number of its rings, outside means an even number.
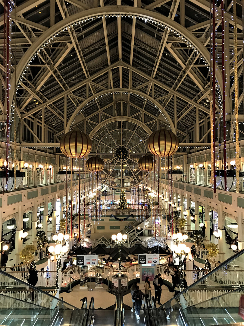
[[[61,257],[64,256],[69,248],[66,246],[66,242],[69,239],[69,235],[65,234],[63,235],[62,233],[59,234],[54,234],[52,239],[55,241],[56,246],[50,246],[48,248],[48,251],[50,252],[50,259],[53,261],[54,257],[56,257],[57,265],[56,265],[56,290],[59,289],[59,271],[61,271]]]

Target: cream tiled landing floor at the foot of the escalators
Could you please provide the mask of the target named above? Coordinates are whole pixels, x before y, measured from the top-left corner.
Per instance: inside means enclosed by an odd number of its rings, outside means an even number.
[[[140,289],[144,292],[144,284],[139,284]],[[91,300],[91,297],[94,298],[94,309],[102,308],[106,309],[110,307],[111,305],[115,304],[115,295],[112,293],[109,293],[106,291],[107,286],[103,285],[103,290],[82,290],[80,289],[79,285],[76,285],[73,288],[73,291],[70,293],[62,292],[60,293],[60,297],[63,298],[64,301],[66,301],[69,304],[74,305],[77,308],[80,308],[82,306],[82,301],[80,299],[83,299],[84,297],[87,297],[88,303]],[[155,295],[154,288],[152,287],[152,296]],[[161,295],[161,303],[165,303],[169,299],[173,297],[173,293],[169,292],[169,289],[164,285],[162,287],[162,295]],[[123,298],[124,304],[132,307],[132,301],[131,301],[131,294],[124,295]],[[159,307],[158,304],[156,304],[157,307]]]

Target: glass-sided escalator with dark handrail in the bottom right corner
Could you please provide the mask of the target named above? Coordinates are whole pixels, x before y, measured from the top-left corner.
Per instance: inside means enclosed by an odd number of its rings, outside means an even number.
[[[156,308],[152,298],[152,309],[146,311],[145,326],[210,326],[240,323],[243,319],[244,249],[163,306]]]

